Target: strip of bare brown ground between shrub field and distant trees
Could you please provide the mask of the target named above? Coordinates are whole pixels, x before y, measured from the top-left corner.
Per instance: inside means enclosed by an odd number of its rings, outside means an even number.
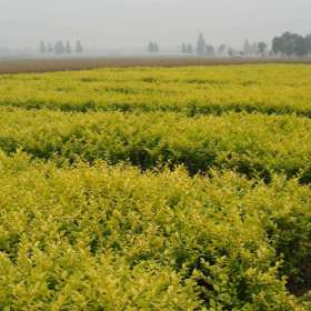
[[[0,73],[52,72],[104,67],[182,67],[258,63],[308,63],[311,59],[197,58],[197,57],[118,57],[0,59]]]

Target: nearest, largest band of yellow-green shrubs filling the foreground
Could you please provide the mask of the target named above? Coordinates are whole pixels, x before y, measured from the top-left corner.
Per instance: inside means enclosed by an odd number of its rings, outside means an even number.
[[[310,289],[311,191],[297,180],[0,158],[1,310],[310,307],[287,290]]]

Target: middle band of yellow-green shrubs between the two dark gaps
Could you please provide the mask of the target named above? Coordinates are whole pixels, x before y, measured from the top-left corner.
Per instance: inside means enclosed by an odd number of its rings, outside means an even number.
[[[184,164],[191,174],[233,169],[270,181],[273,172],[311,181],[311,121],[290,116],[234,113],[182,118],[170,113],[63,113],[1,109],[0,149],[33,158],[143,170]]]

